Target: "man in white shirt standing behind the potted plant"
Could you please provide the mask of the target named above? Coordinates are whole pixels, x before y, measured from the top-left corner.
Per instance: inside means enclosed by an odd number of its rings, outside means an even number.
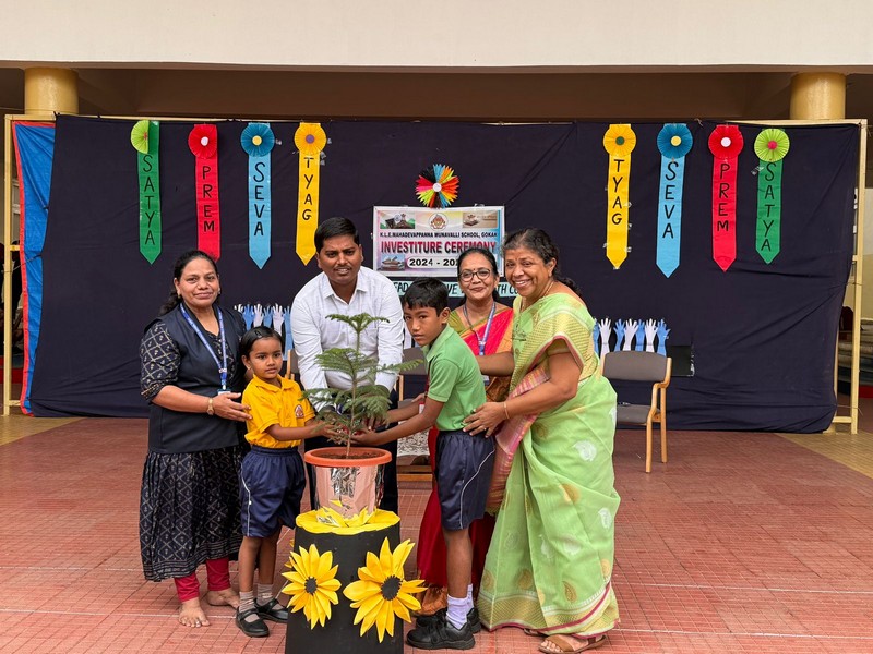
[[[326,372],[315,356],[330,348],[354,348],[351,330],[332,320],[331,314],[368,313],[387,318],[373,323],[361,336],[364,354],[379,356],[381,364],[403,360],[403,308],[394,284],[383,275],[361,266],[363,250],[355,225],[347,218],[328,218],[315,230],[315,257],[322,272],[310,280],[294,300],[291,335],[303,388],[350,388],[350,379],[342,373]],[[393,392],[397,375],[380,373],[376,384]],[[396,401],[396,396],[392,398]],[[316,407],[318,408],[318,407]],[[307,450],[331,445],[326,438],[308,438]],[[397,512],[397,441],[380,446],[392,453],[385,465],[384,494],[380,508]],[[309,474],[310,499],[314,504],[315,480]]]

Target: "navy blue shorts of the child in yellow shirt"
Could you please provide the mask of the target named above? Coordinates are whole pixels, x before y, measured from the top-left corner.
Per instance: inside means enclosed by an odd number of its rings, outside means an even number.
[[[296,447],[252,446],[239,471],[242,535],[265,538],[282,524],[294,528],[307,480]]]

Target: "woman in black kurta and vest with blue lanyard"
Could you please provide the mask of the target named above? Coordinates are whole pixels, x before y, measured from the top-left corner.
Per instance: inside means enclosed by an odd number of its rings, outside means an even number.
[[[239,604],[228,562],[241,542],[239,403],[244,386],[237,363],[244,323],[216,303],[215,262],[191,251],[176,262],[174,291],[140,346],[142,395],[151,403],[148,455],[140,497],[143,573],[174,578],[179,621],[208,625],[196,568],[206,564],[213,605]],[[242,429],[244,431],[244,429]]]

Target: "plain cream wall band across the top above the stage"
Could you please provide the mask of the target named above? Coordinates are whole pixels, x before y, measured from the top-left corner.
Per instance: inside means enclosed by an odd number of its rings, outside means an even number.
[[[873,70],[870,0],[0,0],[0,65]]]

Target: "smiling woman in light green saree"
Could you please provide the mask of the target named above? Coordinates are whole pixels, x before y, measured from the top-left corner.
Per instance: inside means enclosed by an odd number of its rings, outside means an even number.
[[[540,229],[506,237],[506,279],[518,298],[512,352],[479,358],[512,375],[505,402],[487,402],[468,431],[494,435],[490,505],[499,508],[478,609],[489,629],[546,635],[546,654],[602,645],[619,621],[612,591],[615,393],[598,372],[594,318],[555,276],[558,247]]]

